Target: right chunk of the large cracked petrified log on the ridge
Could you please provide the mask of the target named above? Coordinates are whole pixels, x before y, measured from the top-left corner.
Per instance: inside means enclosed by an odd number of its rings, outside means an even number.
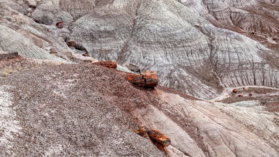
[[[142,78],[144,79],[146,88],[156,87],[158,84],[158,76],[154,71],[147,70],[145,73],[142,73]]]

